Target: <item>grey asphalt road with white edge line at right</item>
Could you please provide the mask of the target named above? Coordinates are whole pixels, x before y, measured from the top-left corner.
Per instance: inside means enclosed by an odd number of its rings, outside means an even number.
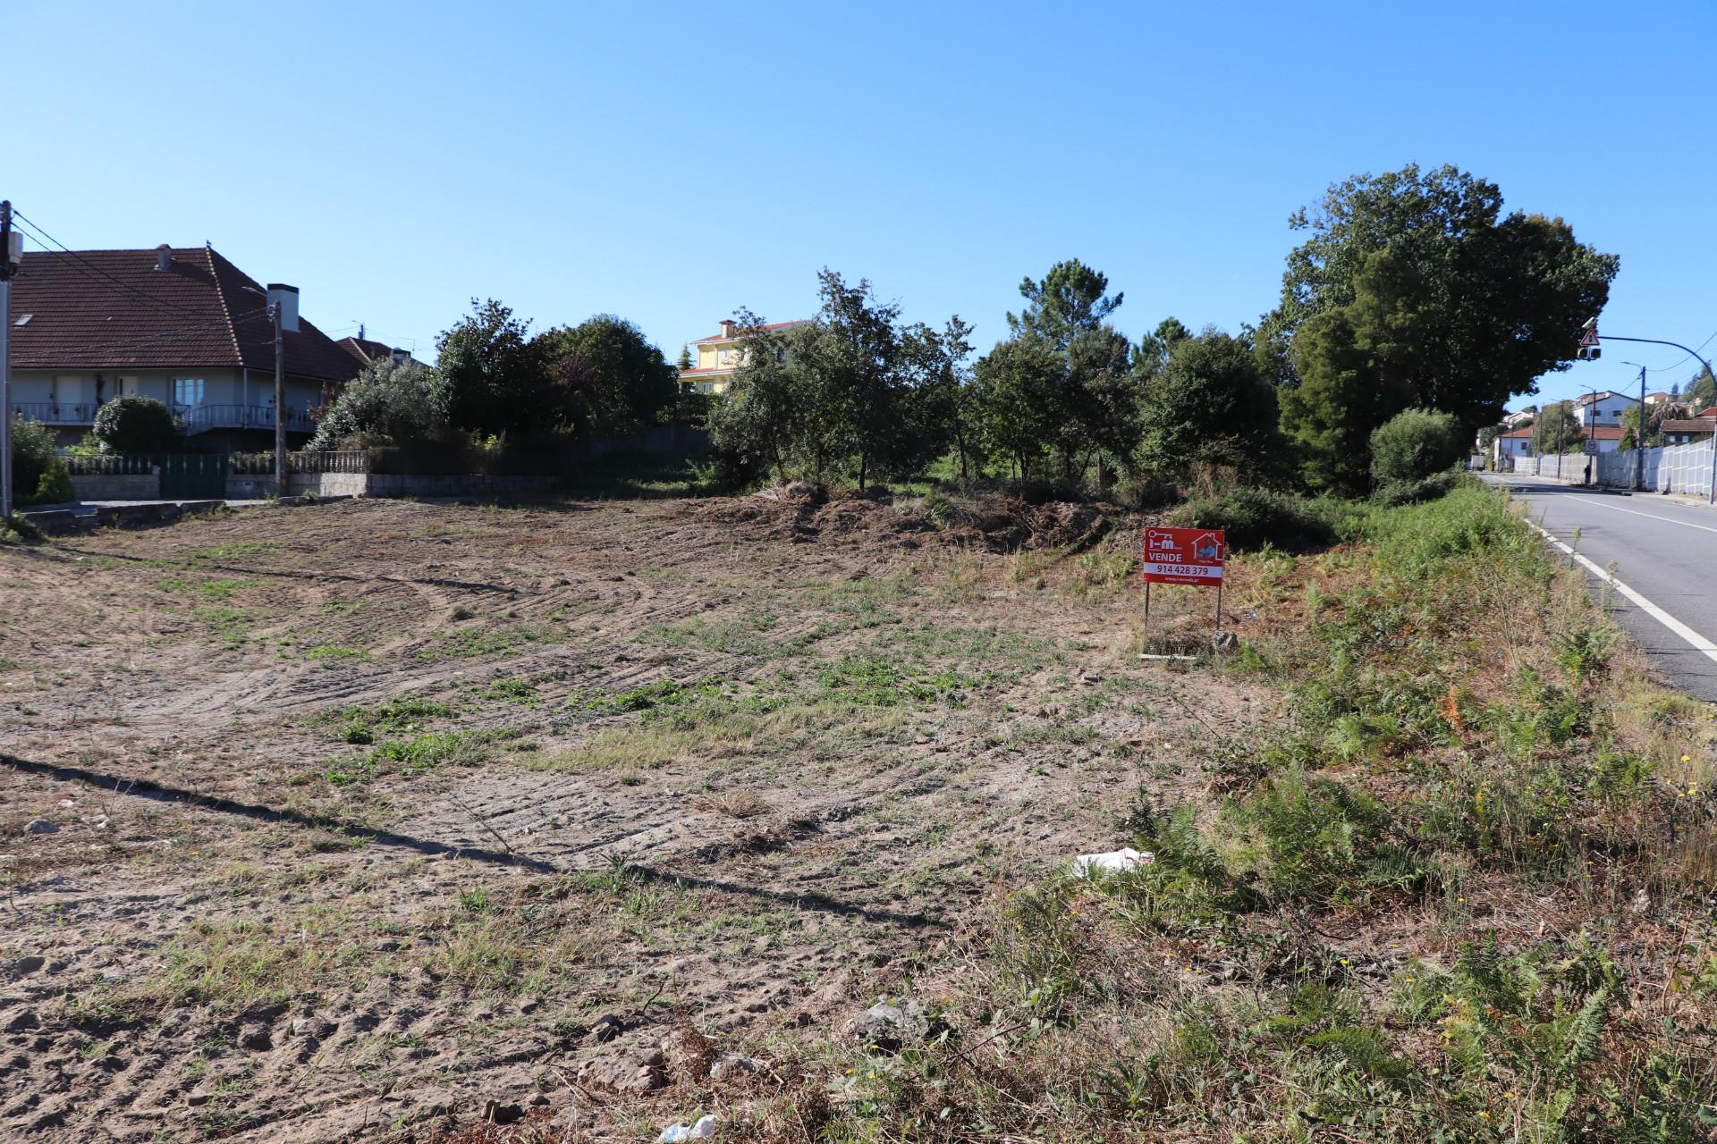
[[[1614,563],[1623,590],[1609,593],[1611,614],[1678,688],[1717,701],[1717,511],[1648,492],[1483,479],[1530,504],[1528,520],[1587,557],[1593,578]]]

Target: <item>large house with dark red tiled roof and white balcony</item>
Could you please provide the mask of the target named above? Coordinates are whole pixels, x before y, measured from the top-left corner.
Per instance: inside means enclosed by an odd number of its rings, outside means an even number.
[[[285,406],[275,408],[275,324],[282,307]],[[299,290],[268,288],[211,247],[31,250],[12,281],[12,403],[76,441],[122,393],[160,398],[197,448],[266,449],[316,431],[326,388],[359,370],[354,355],[299,316]]]

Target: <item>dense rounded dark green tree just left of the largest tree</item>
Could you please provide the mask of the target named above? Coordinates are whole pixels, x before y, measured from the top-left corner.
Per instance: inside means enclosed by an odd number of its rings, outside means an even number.
[[[1276,422],[1276,391],[1250,341],[1207,328],[1176,341],[1145,382],[1140,467],[1176,479],[1193,465],[1224,465],[1259,479],[1279,453]]]

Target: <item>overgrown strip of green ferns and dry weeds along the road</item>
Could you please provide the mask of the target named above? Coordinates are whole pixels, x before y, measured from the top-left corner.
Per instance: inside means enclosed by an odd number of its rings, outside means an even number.
[[[1717,1139],[1707,712],[1499,496],[1341,530],[1235,667],[1286,722],[1140,799],[1150,864],[1004,895],[824,1139]]]

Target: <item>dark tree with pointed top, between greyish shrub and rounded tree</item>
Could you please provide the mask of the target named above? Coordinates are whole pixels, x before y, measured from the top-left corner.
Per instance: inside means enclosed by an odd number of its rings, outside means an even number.
[[[546,345],[529,336],[529,322],[494,298],[472,298],[470,309],[436,338],[452,425],[477,436],[525,437],[577,429],[580,403],[555,376]]]

